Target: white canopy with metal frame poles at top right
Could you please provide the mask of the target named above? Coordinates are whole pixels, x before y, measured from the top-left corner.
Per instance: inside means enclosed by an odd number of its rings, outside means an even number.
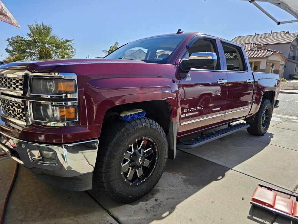
[[[298,22],[298,0],[242,0],[242,1],[249,1],[252,4],[254,4],[263,13],[265,13],[267,16],[269,16],[269,18],[271,18],[274,22],[276,22],[277,25],[280,25],[280,24],[283,24],[283,23]],[[278,21],[273,16],[271,16],[270,13],[268,13],[265,9],[263,9],[259,4],[257,4],[256,1],[264,1],[264,2],[269,2],[271,4],[274,4],[275,6],[280,7],[281,9],[283,9],[286,12],[290,13],[296,19],[295,20],[289,20],[289,21]]]

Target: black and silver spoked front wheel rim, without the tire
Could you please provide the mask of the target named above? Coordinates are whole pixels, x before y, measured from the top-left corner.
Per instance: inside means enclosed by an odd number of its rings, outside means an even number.
[[[156,142],[149,137],[141,137],[132,142],[121,163],[121,175],[129,185],[144,183],[155,171],[158,160]]]

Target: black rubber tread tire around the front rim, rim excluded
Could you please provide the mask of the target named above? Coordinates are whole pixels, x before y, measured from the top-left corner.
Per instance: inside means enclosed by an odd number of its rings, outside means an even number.
[[[123,155],[127,153],[133,140],[143,136],[156,142],[159,156],[156,159],[156,168],[146,181],[132,186],[122,178]],[[158,123],[141,118],[128,122],[119,121],[106,127],[100,136],[98,151],[94,181],[114,200],[129,203],[146,195],[159,181],[167,162],[168,144],[164,130]]]

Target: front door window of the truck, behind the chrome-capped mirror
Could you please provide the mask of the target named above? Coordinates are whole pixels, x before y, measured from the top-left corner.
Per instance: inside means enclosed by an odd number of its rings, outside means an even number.
[[[212,67],[204,67],[202,69],[204,70],[221,70],[220,67],[220,61],[219,61],[219,55],[218,55],[218,49],[215,40],[208,39],[208,38],[200,38],[196,40],[190,48],[187,50],[187,52],[182,57],[183,59],[189,59],[190,55],[192,53],[199,53],[199,52],[212,52],[216,53],[217,56],[217,65]]]

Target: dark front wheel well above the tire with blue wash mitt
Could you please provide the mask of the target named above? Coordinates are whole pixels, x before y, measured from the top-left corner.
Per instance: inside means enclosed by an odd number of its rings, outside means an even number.
[[[122,111],[129,111],[133,109],[142,109],[146,111],[145,117],[159,123],[166,135],[169,133],[172,114],[170,103],[166,100],[135,102],[111,107],[105,112],[103,128],[111,122],[117,120]]]

